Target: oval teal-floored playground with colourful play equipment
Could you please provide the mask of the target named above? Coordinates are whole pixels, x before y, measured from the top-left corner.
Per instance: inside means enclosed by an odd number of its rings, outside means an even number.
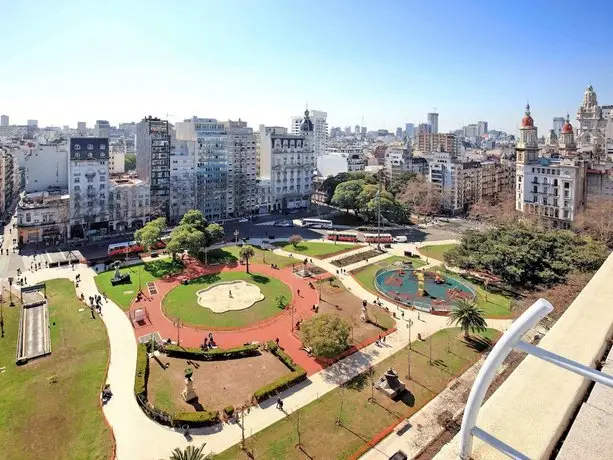
[[[384,268],[375,275],[377,290],[404,305],[424,311],[449,311],[458,299],[475,299],[475,291],[440,271]]]

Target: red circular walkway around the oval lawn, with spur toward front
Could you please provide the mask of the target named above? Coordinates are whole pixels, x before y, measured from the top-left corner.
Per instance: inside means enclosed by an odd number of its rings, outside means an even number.
[[[140,302],[134,302],[132,304],[132,310],[146,307],[149,314],[149,320],[151,321],[150,324],[147,323],[145,326],[136,326],[134,329],[136,337],[157,331],[164,340],[168,337],[173,341],[177,340],[177,329],[172,325],[172,320],[164,316],[162,312],[162,299],[168,291],[178,286],[181,280],[198,278],[205,274],[219,273],[220,271],[245,271],[246,269],[244,265],[203,266],[195,259],[186,259],[185,265],[186,268],[181,274],[155,282],[158,291],[157,294],[150,297],[145,289],[144,293],[147,294],[147,297]],[[319,302],[317,291],[309,287],[308,281],[294,275],[291,268],[275,270],[270,268],[269,265],[249,264],[249,271],[277,278],[290,287],[292,290],[291,301],[295,307],[294,323],[299,319],[306,319],[313,315],[311,307]],[[320,277],[324,278],[326,276],[329,275]],[[297,294],[298,290],[300,290],[300,296]],[[204,337],[208,336],[209,332],[213,333],[215,342],[221,348],[236,347],[252,341],[263,343],[278,337],[280,345],[296,363],[304,367],[309,375],[325,367],[324,364],[318,363],[305,351],[300,350],[302,343],[291,331],[291,312],[289,308],[273,318],[268,318],[260,323],[251,324],[237,330],[212,330],[184,326],[180,330],[181,345],[186,347],[199,347]]]

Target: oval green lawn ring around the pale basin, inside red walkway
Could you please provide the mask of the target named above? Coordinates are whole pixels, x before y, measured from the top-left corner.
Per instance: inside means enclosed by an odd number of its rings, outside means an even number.
[[[241,311],[214,313],[212,310],[198,305],[196,292],[220,281],[244,280],[255,284],[264,294],[264,300],[250,308]],[[209,327],[242,327],[281,313],[277,297],[283,296],[285,304],[291,301],[290,288],[276,278],[269,278],[257,273],[222,272],[205,275],[198,280],[192,280],[188,285],[179,285],[172,289],[162,302],[166,315],[170,318],[179,317],[185,323]]]

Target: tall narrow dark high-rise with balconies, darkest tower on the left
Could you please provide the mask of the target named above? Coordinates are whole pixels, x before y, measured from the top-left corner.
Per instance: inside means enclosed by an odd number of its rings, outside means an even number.
[[[169,217],[173,135],[168,120],[148,116],[136,126],[136,172],[151,189],[152,219]]]

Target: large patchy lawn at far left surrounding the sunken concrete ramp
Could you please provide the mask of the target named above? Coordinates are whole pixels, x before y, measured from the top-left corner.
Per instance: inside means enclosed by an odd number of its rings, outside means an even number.
[[[109,356],[106,329],[89,309],[78,311],[83,305],[70,281],[48,281],[47,295],[52,353],[23,366],[15,365],[19,307],[4,306],[1,457],[108,459],[113,441],[99,407]]]

